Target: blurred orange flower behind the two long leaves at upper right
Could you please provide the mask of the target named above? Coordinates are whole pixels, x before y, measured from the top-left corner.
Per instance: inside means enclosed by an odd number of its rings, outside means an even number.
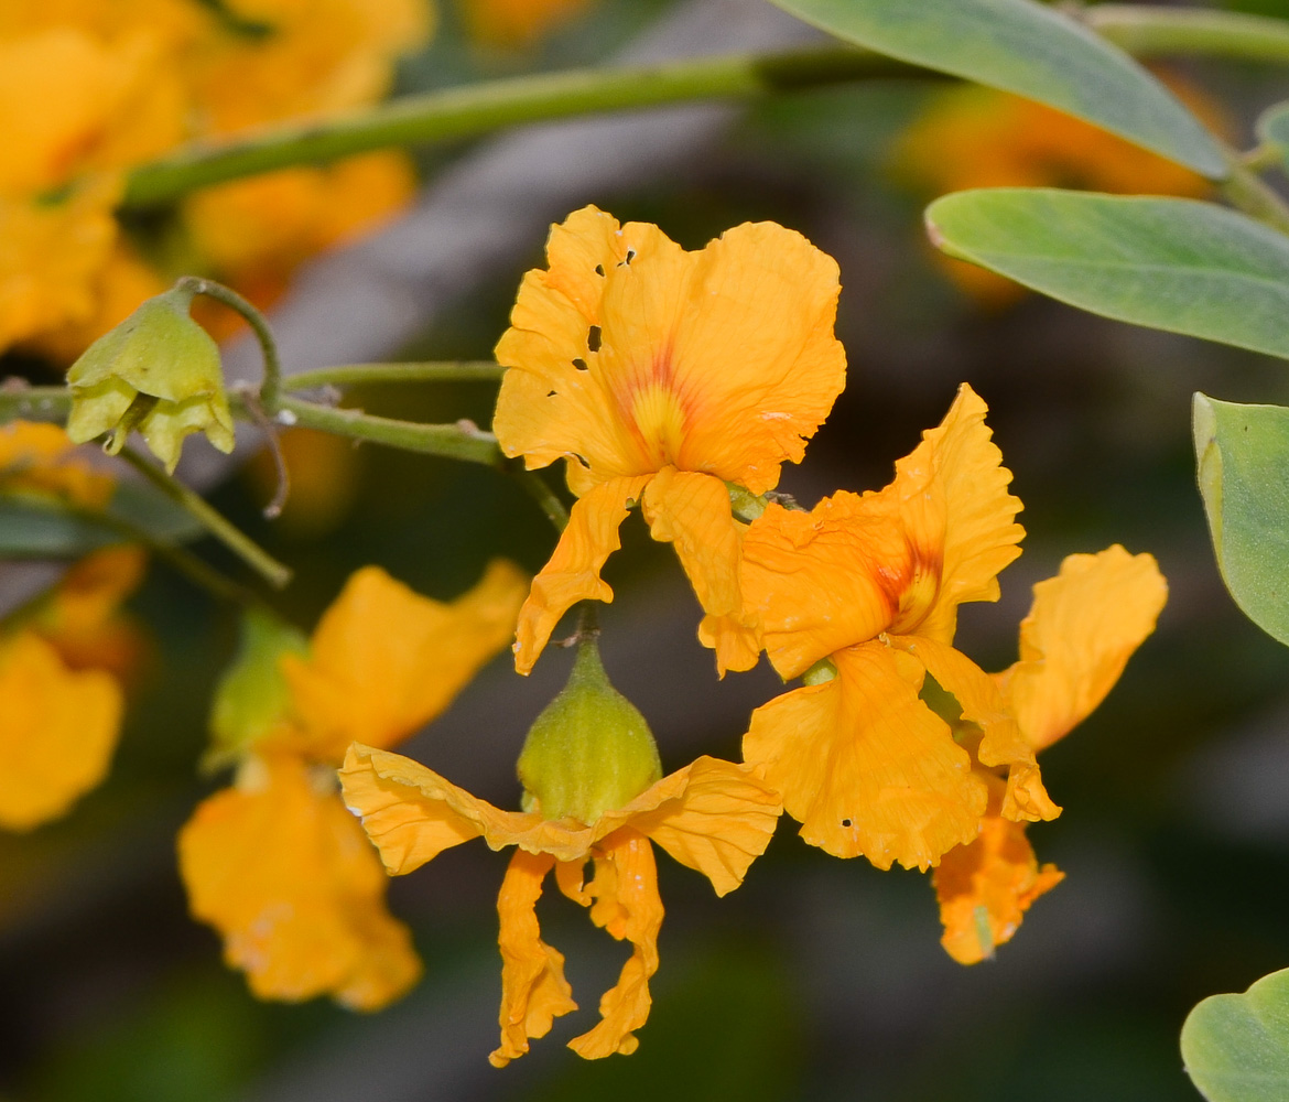
[[[1172,90],[1210,129],[1230,130],[1219,108],[1185,81]],[[1182,165],[1090,122],[991,88],[964,84],[931,97],[891,152],[897,177],[927,195],[980,187],[1074,187],[1123,195],[1199,197],[1210,184]],[[941,267],[986,305],[1025,294],[1018,284],[936,253]]]

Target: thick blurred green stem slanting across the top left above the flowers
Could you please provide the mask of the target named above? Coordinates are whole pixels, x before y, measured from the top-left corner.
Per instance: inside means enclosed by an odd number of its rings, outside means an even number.
[[[362,113],[178,150],[138,166],[129,177],[122,204],[156,206],[208,184],[273,169],[392,146],[460,140],[521,122],[691,99],[748,98],[910,72],[924,71],[864,50],[833,46],[480,81],[403,97]]]

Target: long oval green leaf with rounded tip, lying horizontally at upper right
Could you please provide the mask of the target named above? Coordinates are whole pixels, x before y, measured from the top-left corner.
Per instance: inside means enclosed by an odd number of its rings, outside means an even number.
[[[1289,237],[1226,208],[990,188],[936,200],[927,232],[1092,313],[1289,358]]]

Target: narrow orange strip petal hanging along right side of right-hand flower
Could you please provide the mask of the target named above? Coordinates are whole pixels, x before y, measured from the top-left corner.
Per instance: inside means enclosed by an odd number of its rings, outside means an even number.
[[[1008,768],[1005,818],[1056,818],[1061,808],[1052,803],[1039,775],[1034,749],[1021,736],[1016,719],[1007,711],[998,686],[960,651],[922,635],[891,635],[891,646],[913,655],[942,688],[949,690],[963,709],[963,719],[980,727],[984,737],[976,750],[985,766]]]

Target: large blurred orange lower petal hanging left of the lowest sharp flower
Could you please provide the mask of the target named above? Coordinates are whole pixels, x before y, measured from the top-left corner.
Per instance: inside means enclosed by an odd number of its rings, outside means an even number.
[[[180,830],[179,870],[193,915],[219,931],[224,960],[259,998],[329,994],[371,1010],[402,995],[420,962],[333,785],[293,757],[253,759]]]

